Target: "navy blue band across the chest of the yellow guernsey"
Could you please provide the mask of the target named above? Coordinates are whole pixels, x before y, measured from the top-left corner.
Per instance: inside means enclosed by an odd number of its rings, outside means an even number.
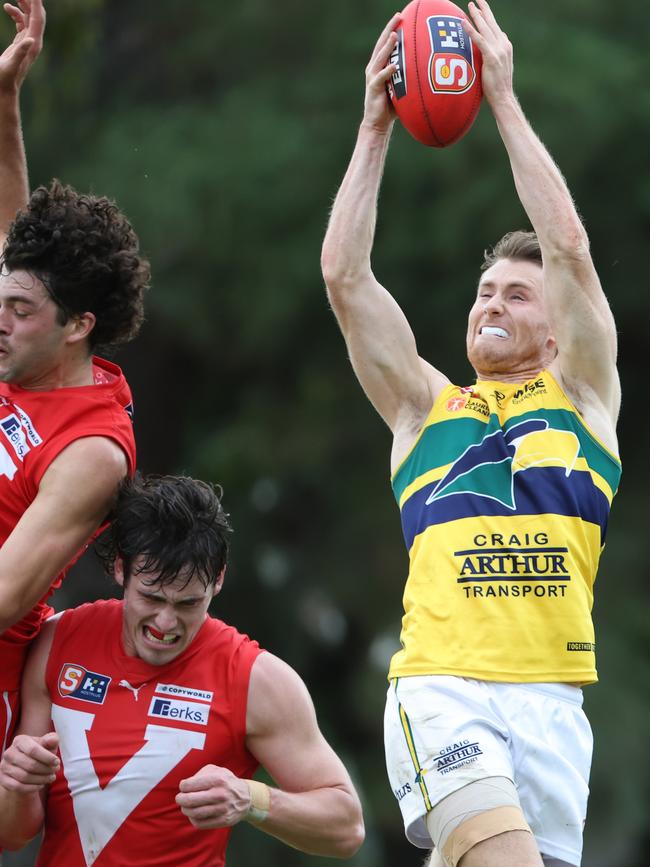
[[[490,466],[494,471],[503,464]],[[509,467],[505,467],[511,476]],[[480,468],[485,470],[485,468]],[[487,472],[487,470],[485,470]],[[596,488],[591,475],[574,470],[566,475],[563,467],[531,467],[525,472],[511,476],[515,508],[503,499],[481,494],[478,487],[483,480],[478,479],[474,491],[451,491],[431,503],[429,498],[439,482],[425,485],[416,491],[402,506],[402,530],[406,547],[411,549],[416,536],[434,524],[444,524],[460,518],[494,515],[543,515],[556,514],[578,517],[600,527],[601,540],[604,540],[609,518],[607,497]],[[493,488],[494,489],[494,488]]]

